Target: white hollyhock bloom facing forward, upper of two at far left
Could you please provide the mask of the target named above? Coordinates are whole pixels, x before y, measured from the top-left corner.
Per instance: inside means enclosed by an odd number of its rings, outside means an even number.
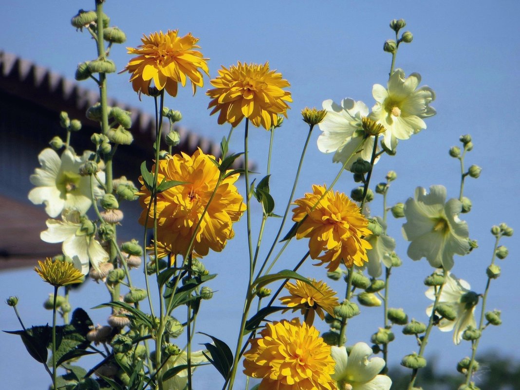
[[[86,151],[83,157],[78,157],[72,149],[66,149],[60,158],[53,149],[42,150],[38,155],[42,167],[36,168],[30,177],[36,187],[29,192],[29,200],[45,204],[45,212],[51,217],[57,217],[66,209],[85,214],[92,204],[90,177],[80,176],[79,168],[91,153]],[[105,180],[102,172],[98,177]],[[97,183],[95,195],[99,196]]]

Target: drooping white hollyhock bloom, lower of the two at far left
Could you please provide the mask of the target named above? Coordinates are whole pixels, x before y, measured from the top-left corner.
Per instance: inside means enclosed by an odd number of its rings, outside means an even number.
[[[99,270],[99,264],[109,260],[108,253],[94,238],[94,225],[83,219],[78,211],[64,211],[62,220],[47,219],[47,230],[42,231],[42,241],[63,242],[63,254],[72,258],[74,266],[83,275],[88,273],[89,263]]]

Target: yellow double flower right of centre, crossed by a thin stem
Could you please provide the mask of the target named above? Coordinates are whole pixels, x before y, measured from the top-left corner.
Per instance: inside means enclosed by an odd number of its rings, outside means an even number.
[[[321,261],[317,265],[329,263],[327,269],[333,271],[340,262],[347,267],[368,262],[367,250],[372,245],[363,239],[372,233],[368,220],[344,193],[313,185],[313,193],[294,203],[292,219],[302,222],[296,238],[309,238],[310,257]],[[326,252],[320,256],[322,251]]]

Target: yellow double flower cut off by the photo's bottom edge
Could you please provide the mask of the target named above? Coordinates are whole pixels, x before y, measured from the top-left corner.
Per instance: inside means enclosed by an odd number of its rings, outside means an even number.
[[[314,327],[292,321],[268,323],[244,353],[244,374],[262,378],[258,390],[332,390],[331,348]]]

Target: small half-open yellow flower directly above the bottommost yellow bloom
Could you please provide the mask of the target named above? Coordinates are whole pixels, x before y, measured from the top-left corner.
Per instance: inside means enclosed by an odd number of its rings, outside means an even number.
[[[334,316],[334,306],[337,306],[336,294],[327,283],[312,279],[313,285],[309,285],[301,280],[296,280],[296,284],[285,283],[285,288],[289,290],[291,295],[282,296],[280,301],[287,307],[302,308],[302,314],[305,316],[305,322],[310,326],[314,322],[315,312],[321,319],[325,318],[323,310]],[[314,287],[313,287],[314,286]],[[302,307],[303,306],[303,307]]]

